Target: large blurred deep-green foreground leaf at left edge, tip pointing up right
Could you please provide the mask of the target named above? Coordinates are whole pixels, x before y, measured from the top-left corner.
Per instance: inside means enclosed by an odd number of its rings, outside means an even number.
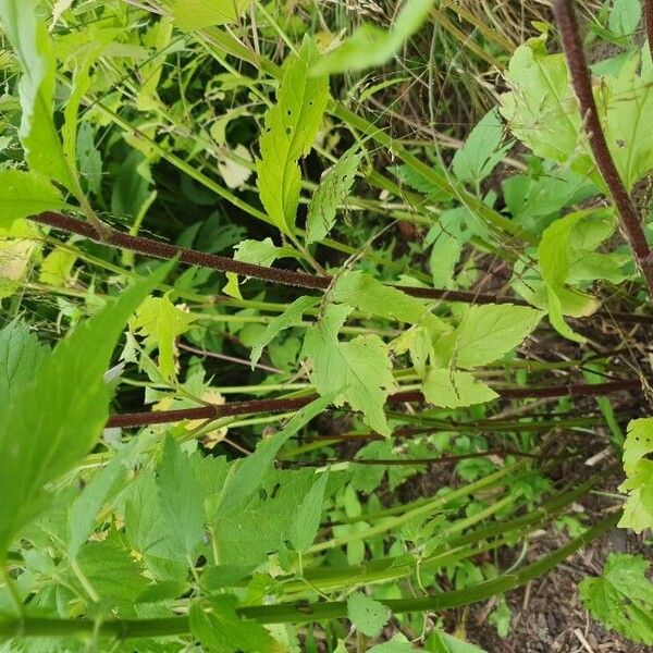
[[[96,444],[109,415],[103,373],[115,343],[128,317],[169,270],[163,266],[81,323],[0,412],[0,558],[20,529],[46,507],[45,485]]]

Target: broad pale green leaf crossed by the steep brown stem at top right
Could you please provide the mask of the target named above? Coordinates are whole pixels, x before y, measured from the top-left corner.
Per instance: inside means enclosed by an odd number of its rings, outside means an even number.
[[[546,52],[545,36],[515,50],[500,111],[513,134],[535,155],[569,165],[606,190],[590,153],[564,54]],[[628,190],[653,168],[648,125],[653,122],[653,66],[638,52],[616,74],[593,85],[608,149]]]

